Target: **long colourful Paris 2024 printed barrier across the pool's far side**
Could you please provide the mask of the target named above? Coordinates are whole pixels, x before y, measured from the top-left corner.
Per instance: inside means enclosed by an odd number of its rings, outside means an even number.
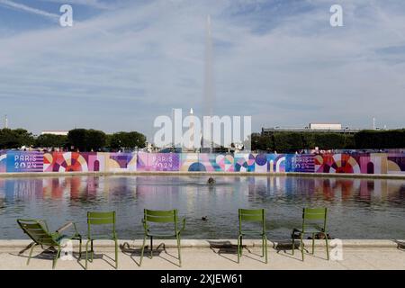
[[[0,150],[0,173],[131,171],[405,175],[405,153],[310,155]]]

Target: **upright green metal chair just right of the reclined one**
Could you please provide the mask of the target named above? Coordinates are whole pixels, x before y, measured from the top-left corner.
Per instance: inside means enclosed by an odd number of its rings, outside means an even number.
[[[94,240],[112,240],[115,242],[115,269],[118,268],[118,238],[115,232],[115,211],[88,211],[87,212],[87,242],[85,243],[85,269],[87,269],[87,261],[93,262],[94,250],[93,241]],[[92,233],[92,226],[107,225],[111,226],[109,233],[100,234]],[[88,244],[91,244],[91,258],[88,259]]]

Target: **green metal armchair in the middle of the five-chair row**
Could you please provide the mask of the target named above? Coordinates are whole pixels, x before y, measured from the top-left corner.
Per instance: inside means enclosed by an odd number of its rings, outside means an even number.
[[[174,234],[156,234],[150,231],[150,226],[148,222],[154,223],[174,223]],[[177,251],[178,251],[178,261],[179,265],[182,266],[182,258],[180,256],[180,234],[185,229],[185,218],[183,219],[183,227],[182,229],[178,229],[178,216],[177,210],[168,210],[168,211],[154,211],[144,209],[143,211],[143,229],[145,231],[145,235],[143,238],[142,250],[140,252],[140,262],[139,266],[142,265],[143,259],[143,252],[145,250],[145,243],[147,238],[150,238],[150,257],[153,257],[153,238],[172,238],[175,237],[177,240]]]

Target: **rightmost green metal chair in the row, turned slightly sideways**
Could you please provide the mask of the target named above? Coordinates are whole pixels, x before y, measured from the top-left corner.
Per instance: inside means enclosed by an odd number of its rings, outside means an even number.
[[[323,234],[326,241],[327,257],[329,260],[329,245],[328,245],[328,233],[327,233],[327,208],[304,208],[302,210],[302,229],[294,229],[299,233],[302,261],[304,260],[304,247],[302,238],[305,234],[312,234],[312,254],[315,252],[315,234]],[[293,238],[293,254],[294,254],[294,233]]]

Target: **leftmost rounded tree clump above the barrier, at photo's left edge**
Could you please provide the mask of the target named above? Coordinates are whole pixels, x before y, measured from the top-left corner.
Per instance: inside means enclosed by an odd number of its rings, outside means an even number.
[[[34,139],[31,132],[24,129],[0,130],[0,148],[20,148],[22,146],[32,146]]]

